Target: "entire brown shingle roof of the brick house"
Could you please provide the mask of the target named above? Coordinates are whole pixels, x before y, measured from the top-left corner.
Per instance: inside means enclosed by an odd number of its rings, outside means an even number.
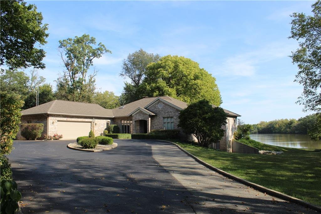
[[[156,100],[162,100],[165,103],[167,102],[171,105],[174,105],[178,107],[179,110],[185,109],[187,107],[187,103],[183,101],[169,96],[160,96],[143,98],[114,109],[105,109],[100,105],[93,103],[79,103],[65,100],[54,100],[36,107],[32,107],[30,109],[23,110],[21,111],[21,113],[22,115],[52,113],[93,117],[126,117],[138,108],[142,108],[147,112],[150,112],[147,109],[145,109],[145,107],[148,108],[148,106],[150,106],[153,102],[156,102]],[[212,106],[216,107],[215,105]],[[224,111],[225,113],[231,116],[240,116],[239,114],[236,114],[232,111],[228,111],[226,109],[224,109]]]

